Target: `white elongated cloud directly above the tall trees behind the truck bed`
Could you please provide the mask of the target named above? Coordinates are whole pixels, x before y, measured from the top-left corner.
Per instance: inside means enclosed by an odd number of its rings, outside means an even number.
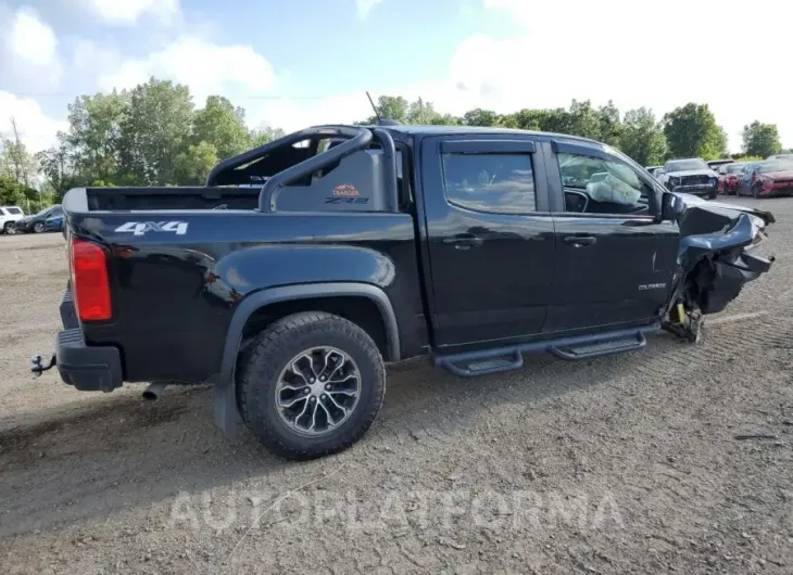
[[[150,76],[186,84],[201,104],[214,93],[255,97],[268,90],[275,74],[269,62],[250,46],[221,46],[184,36],[143,59],[122,61],[99,78],[103,90],[131,88]]]

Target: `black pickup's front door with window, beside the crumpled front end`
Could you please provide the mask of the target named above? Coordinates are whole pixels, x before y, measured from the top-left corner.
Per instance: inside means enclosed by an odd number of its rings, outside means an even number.
[[[554,214],[557,266],[544,331],[652,321],[671,292],[677,223],[654,220],[654,184],[618,155],[599,144],[553,149],[549,179],[564,201]]]

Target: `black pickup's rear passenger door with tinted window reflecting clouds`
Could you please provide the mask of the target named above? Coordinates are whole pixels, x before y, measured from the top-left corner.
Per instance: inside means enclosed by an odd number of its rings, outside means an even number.
[[[540,333],[554,229],[536,142],[436,137],[420,154],[436,344]]]

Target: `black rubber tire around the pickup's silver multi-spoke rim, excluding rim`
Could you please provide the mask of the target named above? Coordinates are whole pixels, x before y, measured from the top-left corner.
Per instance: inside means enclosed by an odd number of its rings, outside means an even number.
[[[349,417],[324,435],[298,433],[281,419],[276,406],[278,380],[302,352],[335,347],[360,371],[360,396]],[[380,410],[386,394],[386,367],[369,335],[355,323],[331,314],[310,311],[278,320],[251,346],[237,382],[242,421],[262,444],[286,459],[314,459],[347,449],[357,442]]]

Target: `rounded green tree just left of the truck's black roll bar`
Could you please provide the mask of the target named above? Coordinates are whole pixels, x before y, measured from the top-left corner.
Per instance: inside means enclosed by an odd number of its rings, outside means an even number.
[[[215,146],[217,157],[225,159],[251,148],[251,135],[246,127],[246,111],[235,107],[227,98],[210,95],[203,110],[196,112],[192,143],[207,142]]]

